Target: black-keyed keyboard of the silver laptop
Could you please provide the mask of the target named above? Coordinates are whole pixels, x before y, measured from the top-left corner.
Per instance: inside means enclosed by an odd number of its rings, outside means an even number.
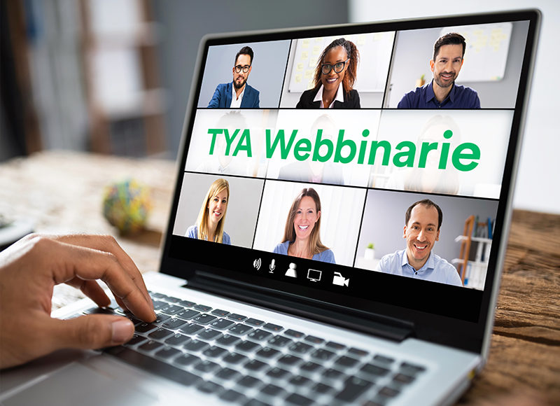
[[[106,349],[127,363],[239,405],[375,406],[398,399],[422,365],[334,342],[282,325],[151,293],[158,316],[134,337]]]

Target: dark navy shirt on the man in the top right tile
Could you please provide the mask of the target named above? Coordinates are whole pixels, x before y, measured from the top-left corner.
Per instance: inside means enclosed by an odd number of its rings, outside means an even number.
[[[480,100],[470,87],[453,84],[443,102],[438,102],[433,92],[433,80],[405,94],[398,109],[480,109]]]

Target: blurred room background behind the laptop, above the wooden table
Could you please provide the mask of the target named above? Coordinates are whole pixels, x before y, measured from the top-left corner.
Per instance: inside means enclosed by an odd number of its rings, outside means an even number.
[[[0,0],[0,163],[45,150],[174,160],[204,34],[540,8],[514,207],[560,214],[556,0]],[[426,57],[428,59],[429,55]]]

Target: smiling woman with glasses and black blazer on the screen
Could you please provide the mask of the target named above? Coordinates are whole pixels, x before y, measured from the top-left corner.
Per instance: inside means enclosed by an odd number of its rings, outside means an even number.
[[[351,41],[338,38],[323,50],[315,69],[315,87],[302,93],[296,109],[359,109],[352,89],[360,53]]]

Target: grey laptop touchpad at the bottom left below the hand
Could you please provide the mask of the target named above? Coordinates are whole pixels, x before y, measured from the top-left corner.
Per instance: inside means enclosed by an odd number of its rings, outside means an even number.
[[[27,405],[153,405],[157,402],[139,388],[129,388],[118,380],[80,363],[71,363],[34,386],[4,400],[6,406]]]

